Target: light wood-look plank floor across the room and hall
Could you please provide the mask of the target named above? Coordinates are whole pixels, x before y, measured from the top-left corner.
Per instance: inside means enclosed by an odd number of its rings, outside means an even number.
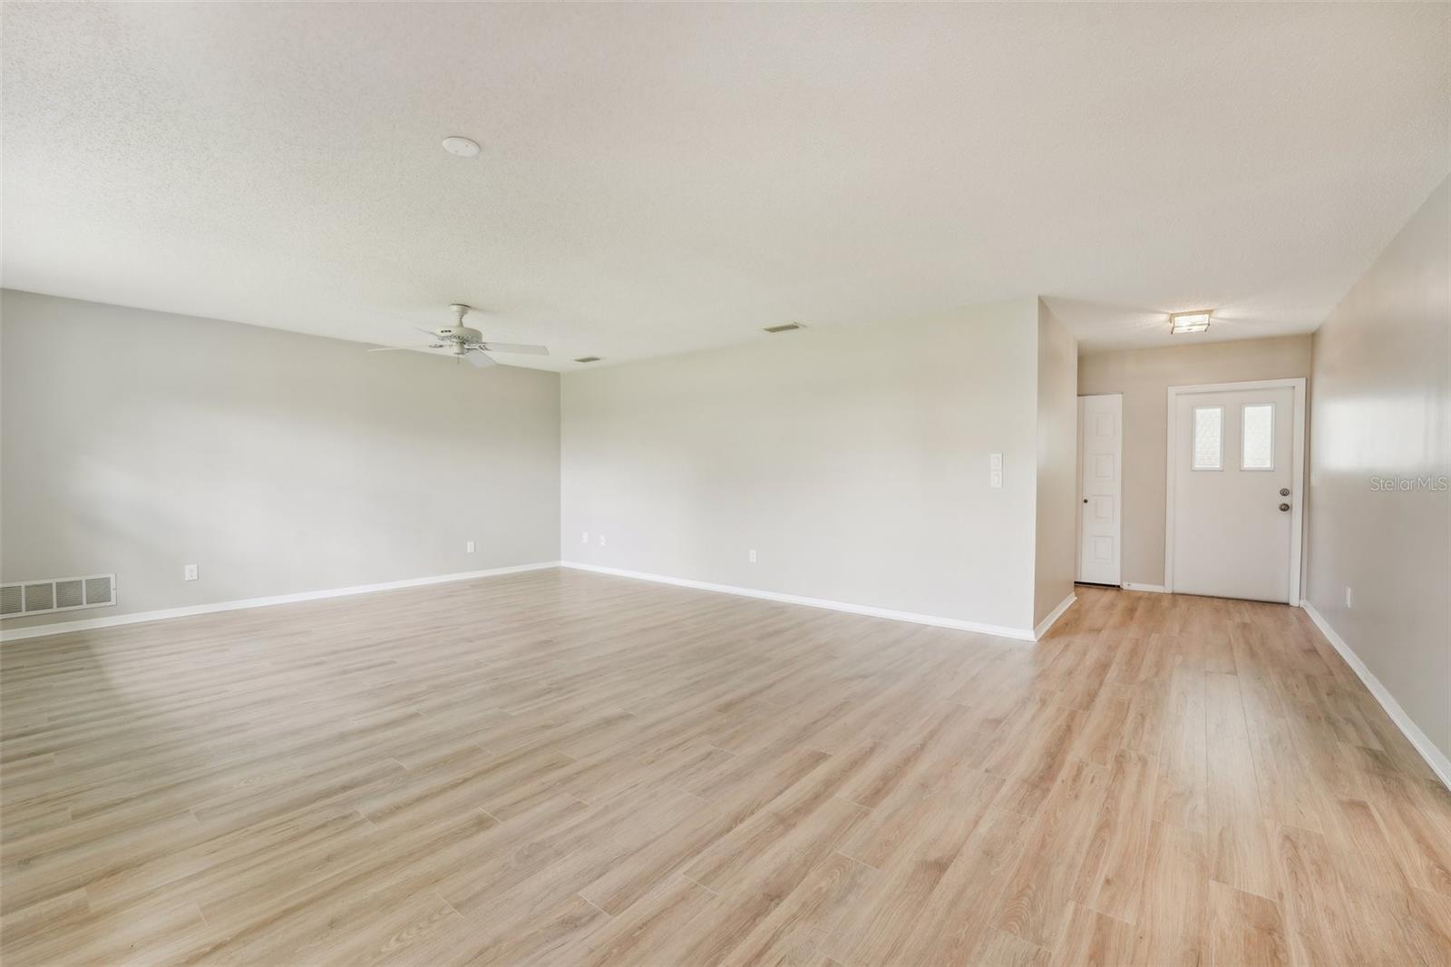
[[[6,967],[1451,960],[1451,797],[1280,605],[1033,646],[541,571],[0,674]]]

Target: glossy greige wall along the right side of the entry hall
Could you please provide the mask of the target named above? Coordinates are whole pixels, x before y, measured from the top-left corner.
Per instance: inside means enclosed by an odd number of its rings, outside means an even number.
[[[1315,610],[1451,756],[1448,240],[1442,181],[1315,334],[1307,571]],[[1397,476],[1432,486],[1373,486]]]

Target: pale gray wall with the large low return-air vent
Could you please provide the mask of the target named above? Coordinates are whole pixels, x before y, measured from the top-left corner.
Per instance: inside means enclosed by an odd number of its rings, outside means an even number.
[[[554,373],[26,292],[0,317],[0,576],[119,589],[6,629],[559,556]]]

